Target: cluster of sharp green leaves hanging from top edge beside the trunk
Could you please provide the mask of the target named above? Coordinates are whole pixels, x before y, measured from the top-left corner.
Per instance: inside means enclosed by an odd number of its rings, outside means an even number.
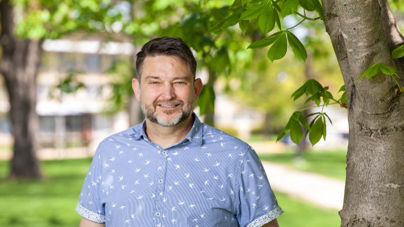
[[[258,19],[260,31],[265,35],[271,32],[276,24],[280,31],[262,40],[251,43],[248,48],[255,49],[272,45],[268,50],[267,56],[273,62],[285,56],[287,43],[289,43],[294,55],[298,59],[306,61],[307,51],[305,46],[289,31],[295,26],[282,30],[281,25],[281,20],[290,14],[303,17],[304,19],[302,21],[307,19],[315,20],[306,17],[306,13],[305,15],[299,14],[297,12],[299,6],[303,8],[305,12],[316,11],[320,15],[318,19],[324,18],[319,0],[235,0],[233,5],[228,9],[230,15],[213,26],[208,32],[220,33],[238,23],[240,30],[245,34],[249,23],[257,23]],[[301,22],[299,22],[299,24]]]

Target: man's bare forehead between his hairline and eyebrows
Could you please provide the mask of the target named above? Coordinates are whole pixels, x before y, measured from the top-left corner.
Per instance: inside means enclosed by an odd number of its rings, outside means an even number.
[[[192,77],[188,64],[173,55],[146,56],[142,66],[142,77]]]

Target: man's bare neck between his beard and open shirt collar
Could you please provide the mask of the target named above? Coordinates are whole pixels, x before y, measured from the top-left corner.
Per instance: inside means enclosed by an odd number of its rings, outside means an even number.
[[[172,127],[164,127],[146,119],[146,135],[151,142],[166,148],[183,140],[193,125],[193,117]]]

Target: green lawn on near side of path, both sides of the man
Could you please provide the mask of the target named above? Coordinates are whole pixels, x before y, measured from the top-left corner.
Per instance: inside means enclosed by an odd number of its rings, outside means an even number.
[[[0,226],[78,226],[78,194],[91,159],[43,161],[46,179],[5,181],[8,163],[0,161]],[[285,211],[281,227],[339,226],[336,210],[324,210],[275,192]]]

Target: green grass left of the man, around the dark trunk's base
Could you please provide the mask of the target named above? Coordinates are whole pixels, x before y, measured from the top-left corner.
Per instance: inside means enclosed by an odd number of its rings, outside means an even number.
[[[78,226],[78,194],[91,159],[42,162],[47,178],[5,182],[6,162],[0,162],[0,226]]]

